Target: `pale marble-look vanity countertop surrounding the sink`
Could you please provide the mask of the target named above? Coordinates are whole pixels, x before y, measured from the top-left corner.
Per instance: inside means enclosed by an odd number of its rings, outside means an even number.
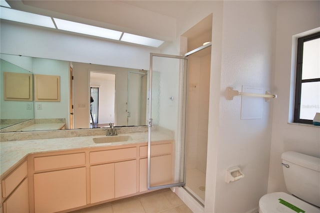
[[[132,140],[109,143],[94,143],[92,138],[105,137],[105,135],[76,136],[76,137],[60,137],[49,139],[30,139],[16,141],[0,142],[0,174],[2,175],[9,168],[14,166],[20,159],[30,153],[38,153],[45,151],[60,151],[76,148],[99,147],[123,145],[131,143],[141,143],[147,141],[147,132],[125,133],[118,135],[130,135]],[[162,131],[152,132],[152,140],[169,140],[173,139],[171,134]]]

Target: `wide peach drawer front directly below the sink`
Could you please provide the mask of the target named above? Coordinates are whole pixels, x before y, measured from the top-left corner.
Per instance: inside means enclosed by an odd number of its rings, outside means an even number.
[[[111,162],[136,157],[136,147],[90,152],[90,163]]]

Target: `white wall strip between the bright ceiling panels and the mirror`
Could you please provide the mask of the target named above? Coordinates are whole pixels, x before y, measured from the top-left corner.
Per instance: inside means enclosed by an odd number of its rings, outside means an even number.
[[[21,39],[23,35],[23,39]],[[149,69],[156,48],[119,43],[1,19],[1,53],[92,64]]]

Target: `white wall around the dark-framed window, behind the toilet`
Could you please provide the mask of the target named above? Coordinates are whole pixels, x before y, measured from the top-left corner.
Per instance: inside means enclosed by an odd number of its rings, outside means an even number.
[[[278,98],[273,108],[268,192],[286,191],[280,165],[282,152],[292,150],[320,157],[320,128],[288,123],[293,117],[295,82],[292,36],[320,26],[320,1],[285,1],[278,5],[276,21],[274,91]]]

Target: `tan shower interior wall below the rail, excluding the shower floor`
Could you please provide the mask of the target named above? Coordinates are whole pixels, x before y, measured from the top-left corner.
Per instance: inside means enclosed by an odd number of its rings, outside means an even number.
[[[188,58],[186,162],[187,168],[197,168],[203,173],[206,168],[210,58],[210,54]]]

